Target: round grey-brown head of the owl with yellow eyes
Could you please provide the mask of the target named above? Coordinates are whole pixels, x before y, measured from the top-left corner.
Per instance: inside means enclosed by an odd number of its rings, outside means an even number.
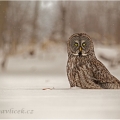
[[[68,40],[68,53],[75,56],[87,56],[94,54],[92,39],[85,33],[73,34]]]

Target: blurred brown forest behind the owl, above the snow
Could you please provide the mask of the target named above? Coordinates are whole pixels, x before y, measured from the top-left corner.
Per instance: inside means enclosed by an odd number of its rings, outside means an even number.
[[[56,51],[62,44],[66,51],[76,32],[89,34],[96,44],[119,46],[120,2],[0,1],[0,68],[16,54],[34,57],[36,48]]]

